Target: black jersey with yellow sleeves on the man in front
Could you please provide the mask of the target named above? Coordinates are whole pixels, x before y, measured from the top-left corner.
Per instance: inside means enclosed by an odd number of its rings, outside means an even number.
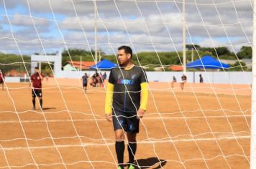
[[[137,112],[139,108],[146,110],[147,95],[147,75],[142,67],[113,68],[107,86],[105,113],[110,114],[112,108],[123,112]]]

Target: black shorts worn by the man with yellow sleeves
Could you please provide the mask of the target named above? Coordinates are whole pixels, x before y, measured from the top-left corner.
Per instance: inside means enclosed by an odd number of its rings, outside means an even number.
[[[137,112],[123,112],[113,110],[114,130],[124,130],[126,132],[138,133],[140,119],[137,119]]]

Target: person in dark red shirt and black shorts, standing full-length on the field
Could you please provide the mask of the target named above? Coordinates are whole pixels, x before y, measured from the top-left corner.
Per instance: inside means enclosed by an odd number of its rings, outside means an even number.
[[[32,102],[33,110],[35,110],[35,97],[39,97],[40,107],[42,108],[42,74],[39,72],[38,67],[35,67],[35,73],[31,76],[32,83]],[[31,86],[31,84],[30,84]]]

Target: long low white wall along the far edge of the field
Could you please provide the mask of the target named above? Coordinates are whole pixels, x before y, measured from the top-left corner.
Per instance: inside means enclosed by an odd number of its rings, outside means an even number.
[[[55,74],[57,78],[80,79],[84,73],[92,76],[95,71],[60,71]],[[109,77],[110,71],[106,72]],[[150,82],[171,82],[173,76],[180,82],[183,72],[147,72],[147,79]],[[204,83],[216,84],[252,84],[252,72],[187,72],[188,82],[199,82],[199,74],[202,74]],[[20,82],[19,77],[5,77],[5,82]]]

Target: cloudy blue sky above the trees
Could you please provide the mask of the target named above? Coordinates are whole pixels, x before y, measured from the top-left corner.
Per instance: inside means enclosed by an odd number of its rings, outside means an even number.
[[[94,3],[96,2],[96,3]],[[52,53],[68,48],[106,54],[182,50],[182,0],[0,0],[0,52]],[[252,0],[186,0],[186,43],[252,46]]]

